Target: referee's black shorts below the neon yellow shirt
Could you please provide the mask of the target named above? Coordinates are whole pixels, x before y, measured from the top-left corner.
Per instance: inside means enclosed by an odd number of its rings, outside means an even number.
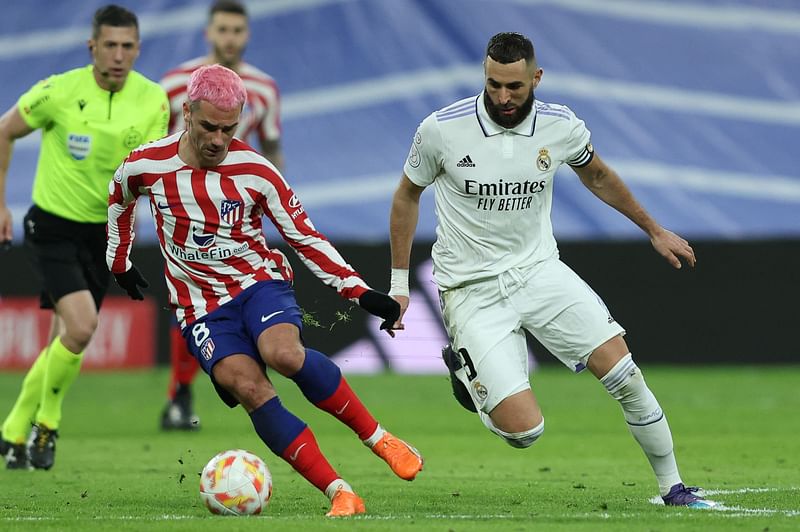
[[[25,249],[42,285],[41,308],[67,294],[89,290],[97,310],[108,289],[106,224],[73,222],[36,205],[23,219]]]

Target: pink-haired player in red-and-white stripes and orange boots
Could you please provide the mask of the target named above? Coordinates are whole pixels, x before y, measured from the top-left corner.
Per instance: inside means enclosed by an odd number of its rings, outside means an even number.
[[[323,456],[311,429],[281,404],[267,368],[350,427],[400,478],[413,480],[422,457],[381,427],[327,356],[303,345],[292,268],[267,245],[263,216],[323,283],[383,318],[381,328],[392,336],[400,306],[372,290],[317,231],[275,165],[233,138],[246,98],[239,76],[204,66],[187,93],[186,130],[134,150],[110,185],[109,269],[133,299],[141,298],[147,282],[129,255],[136,199],[147,196],[170,303],[217,393],[232,408],[241,404],[267,447],[331,499],[328,516],[363,513],[364,502]]]

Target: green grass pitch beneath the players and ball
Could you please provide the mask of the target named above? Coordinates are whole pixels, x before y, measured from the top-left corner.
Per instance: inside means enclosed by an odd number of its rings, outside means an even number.
[[[800,366],[645,367],[670,420],[684,480],[716,511],[665,508],[616,403],[590,375],[548,366],[533,376],[547,430],[509,447],[450,396],[446,377],[379,375],[350,382],[385,427],[425,456],[414,482],[395,478],[335,419],[282,378],[284,403],[314,430],[364,498],[365,516],[330,520],[328,501],[258,440],[199,375],[193,434],[157,429],[165,370],[88,373],[64,409],[55,467],[0,470],[0,530],[798,530]],[[5,415],[22,375],[0,375]],[[198,474],[218,451],[265,459],[274,492],[264,516],[211,515]]]

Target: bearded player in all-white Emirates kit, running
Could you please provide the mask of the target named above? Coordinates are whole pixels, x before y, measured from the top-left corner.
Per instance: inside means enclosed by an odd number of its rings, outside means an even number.
[[[589,368],[619,401],[665,504],[713,505],[684,486],[667,419],[614,320],[559,260],[550,209],[568,164],[598,198],[638,225],[675,268],[694,266],[688,242],[661,227],[594,153],[566,106],[536,100],[533,45],[499,33],[487,46],[485,87],[429,115],[414,136],[391,212],[392,289],[408,308],[408,267],[419,198],[434,186],[434,279],[451,346],[443,358],[459,403],[513,447],[531,446],[544,417],[531,390],[525,330],[575,372]]]

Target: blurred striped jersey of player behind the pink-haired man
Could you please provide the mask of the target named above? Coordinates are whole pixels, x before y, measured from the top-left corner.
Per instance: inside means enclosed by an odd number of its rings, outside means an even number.
[[[192,72],[206,64],[205,57],[181,63],[159,82],[169,97],[169,132],[183,130],[183,102],[186,101],[186,83]],[[275,141],[281,137],[280,93],[275,80],[262,70],[242,63],[239,77],[247,91],[247,102],[242,109],[236,136],[251,141],[253,134],[260,142]]]

